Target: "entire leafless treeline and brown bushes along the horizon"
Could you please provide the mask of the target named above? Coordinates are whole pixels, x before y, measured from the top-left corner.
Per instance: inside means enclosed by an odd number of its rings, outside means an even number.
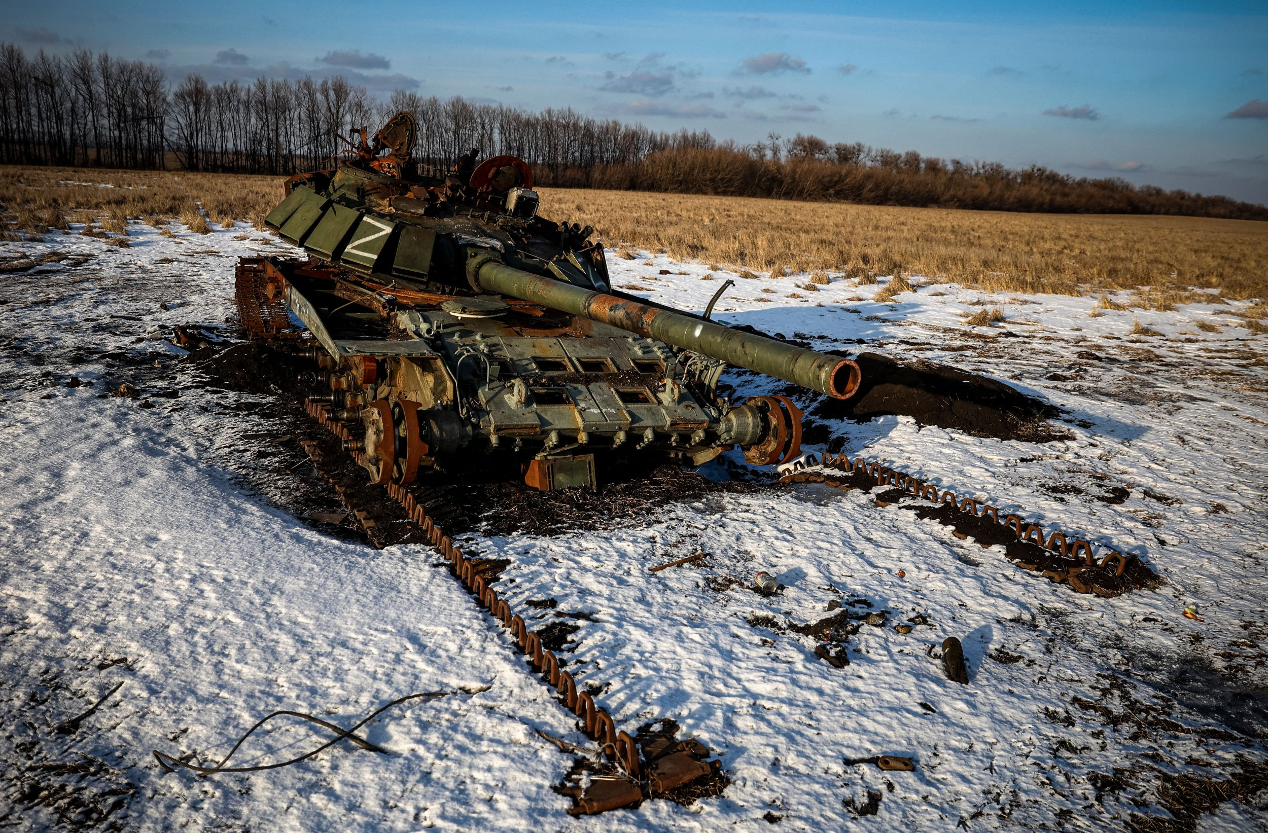
[[[85,49],[28,58],[0,44],[0,162],[293,174],[326,164],[354,127],[412,110],[418,161],[449,166],[472,148],[529,161],[543,185],[593,186],[1030,212],[1268,219],[1225,197],[1077,179],[772,134],[754,145],[708,131],[664,133],[571,108],[533,113],[397,90],[387,101],[340,76],[170,86],[160,67]]]

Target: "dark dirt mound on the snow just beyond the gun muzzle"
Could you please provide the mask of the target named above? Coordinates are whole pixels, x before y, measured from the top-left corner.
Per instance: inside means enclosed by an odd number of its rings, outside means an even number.
[[[973,373],[914,360],[902,363],[879,352],[855,356],[862,384],[848,399],[824,398],[810,415],[822,420],[866,422],[879,416],[909,416],[976,436],[1051,442],[1068,434],[1049,425],[1060,411],[1046,402]]]

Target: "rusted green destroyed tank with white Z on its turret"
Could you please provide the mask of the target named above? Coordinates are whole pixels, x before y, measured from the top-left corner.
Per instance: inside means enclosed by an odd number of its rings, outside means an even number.
[[[735,401],[728,366],[837,399],[858,385],[848,359],[612,289],[593,229],[538,214],[527,164],[415,164],[416,131],[398,113],[288,180],[265,222],[308,257],[237,266],[242,325],[314,361],[309,413],[370,482],[497,458],[531,487],[593,488],[612,462],[697,467],[734,446],[779,464],[800,454],[800,412]]]

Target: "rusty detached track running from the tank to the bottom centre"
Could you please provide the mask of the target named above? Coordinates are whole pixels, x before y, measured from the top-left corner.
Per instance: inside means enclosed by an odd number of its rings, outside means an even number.
[[[337,439],[351,439],[342,422],[330,418],[330,408],[326,404],[306,399],[304,411]],[[351,505],[347,492],[323,470],[325,453],[320,448],[321,444],[306,441],[301,445],[317,472],[335,486],[370,541],[382,545],[377,534],[378,524],[365,510],[358,510]],[[347,454],[356,460],[361,456],[359,451]],[[611,715],[595,702],[595,697],[588,691],[578,688],[577,680],[572,672],[562,667],[555,653],[543,649],[543,635],[530,630],[524,617],[516,614],[491,586],[497,581],[493,559],[472,558],[463,553],[408,488],[396,483],[383,488],[388,497],[420,525],[431,548],[449,562],[449,573],[462,582],[476,604],[510,631],[512,648],[525,654],[538,678],[562,696],[563,704],[581,720],[583,732],[598,743],[601,753],[607,758],[607,766],[591,773],[588,787],[582,790],[579,786],[571,786],[560,790],[576,799],[576,805],[569,813],[574,815],[602,813],[637,804],[643,799],[673,797],[680,787],[691,789],[694,782],[710,776],[720,785],[725,785],[725,778],[720,773],[721,762],[709,761],[710,752],[699,740],[640,744],[629,733],[619,732]],[[431,510],[436,511],[435,507]]]

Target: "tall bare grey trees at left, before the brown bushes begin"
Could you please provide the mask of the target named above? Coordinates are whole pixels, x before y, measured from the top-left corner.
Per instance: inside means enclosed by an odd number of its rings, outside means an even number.
[[[0,44],[0,162],[293,174],[346,147],[340,137],[354,127],[374,131],[402,109],[418,117],[420,161],[449,166],[472,148],[514,153],[544,181],[585,184],[598,166],[714,145],[706,132],[661,133],[571,108],[529,113],[402,90],[382,101],[340,76],[208,84],[189,75],[169,89],[150,63],[85,49],[27,58]]]

